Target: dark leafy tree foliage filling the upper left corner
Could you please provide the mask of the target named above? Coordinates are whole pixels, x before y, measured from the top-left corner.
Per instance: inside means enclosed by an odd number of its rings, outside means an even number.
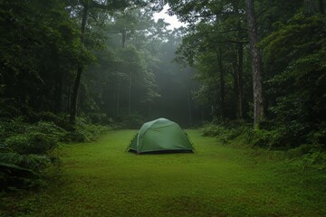
[[[91,59],[75,23],[57,0],[2,1],[1,8],[4,98],[24,113],[62,111],[72,69]]]

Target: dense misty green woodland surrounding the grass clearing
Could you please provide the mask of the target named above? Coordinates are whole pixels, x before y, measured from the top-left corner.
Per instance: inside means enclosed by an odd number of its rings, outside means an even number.
[[[0,0],[0,181],[160,117],[324,163],[325,87],[323,0]]]

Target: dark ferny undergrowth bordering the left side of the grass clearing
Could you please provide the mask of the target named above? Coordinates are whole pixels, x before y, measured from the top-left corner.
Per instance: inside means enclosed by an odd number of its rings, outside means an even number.
[[[59,165],[54,150],[61,143],[90,142],[109,129],[86,118],[71,126],[50,112],[0,119],[0,190],[46,184],[47,169]]]

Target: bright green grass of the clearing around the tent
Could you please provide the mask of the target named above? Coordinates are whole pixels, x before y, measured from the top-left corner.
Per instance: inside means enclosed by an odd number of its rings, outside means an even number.
[[[62,146],[63,180],[2,198],[4,216],[325,216],[326,175],[277,152],[216,144],[196,154],[124,152],[135,131]]]

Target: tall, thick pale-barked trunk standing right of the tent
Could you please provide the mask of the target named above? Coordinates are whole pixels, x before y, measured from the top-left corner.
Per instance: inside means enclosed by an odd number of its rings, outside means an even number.
[[[261,78],[261,54],[257,47],[257,25],[254,16],[254,0],[245,0],[247,25],[249,30],[250,52],[252,55],[253,88],[254,88],[254,129],[259,128],[259,123],[264,117],[263,89]]]

